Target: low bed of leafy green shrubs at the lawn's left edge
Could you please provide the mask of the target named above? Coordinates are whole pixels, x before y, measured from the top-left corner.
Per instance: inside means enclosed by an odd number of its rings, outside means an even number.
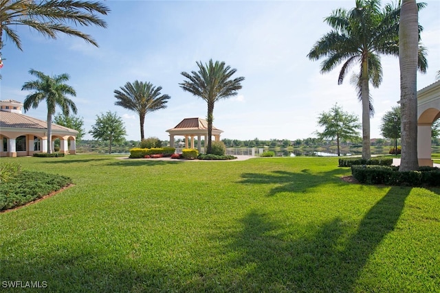
[[[72,183],[72,179],[43,172],[20,172],[14,180],[0,184],[0,210],[19,207]]]

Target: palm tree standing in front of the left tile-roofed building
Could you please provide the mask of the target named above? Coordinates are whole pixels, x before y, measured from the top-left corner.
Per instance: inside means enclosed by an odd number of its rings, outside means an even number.
[[[52,116],[55,113],[56,106],[60,106],[64,115],[69,115],[70,109],[76,114],[77,109],[72,99],[66,97],[66,95],[76,96],[76,92],[72,86],[69,86],[63,82],[69,80],[69,75],[63,73],[61,75],[55,75],[50,77],[45,75],[41,71],[30,69],[29,73],[38,78],[38,80],[32,80],[23,84],[22,91],[35,91],[26,96],[23,102],[23,108],[25,112],[32,108],[37,108],[43,99],[47,104],[47,152],[52,154]]]

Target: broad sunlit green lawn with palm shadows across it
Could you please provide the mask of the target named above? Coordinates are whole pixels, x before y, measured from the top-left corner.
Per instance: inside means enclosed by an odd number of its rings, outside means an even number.
[[[2,282],[45,281],[50,292],[440,291],[439,188],[345,183],[337,158],[115,158],[4,159],[75,186],[0,214]]]

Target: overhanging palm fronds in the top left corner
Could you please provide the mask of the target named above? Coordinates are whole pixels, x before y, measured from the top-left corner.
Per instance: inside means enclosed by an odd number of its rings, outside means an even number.
[[[98,1],[83,0],[0,0],[0,57],[3,47],[3,31],[20,50],[21,40],[17,26],[25,25],[48,36],[56,38],[58,33],[83,38],[98,47],[96,40],[76,30],[74,25],[98,25],[107,27],[107,23],[97,14],[107,15],[110,9]]]

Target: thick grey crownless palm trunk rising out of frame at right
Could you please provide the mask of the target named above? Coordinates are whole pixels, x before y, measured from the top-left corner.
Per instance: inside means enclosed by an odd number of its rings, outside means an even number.
[[[415,0],[404,0],[400,10],[399,65],[401,106],[401,163],[399,171],[416,170],[418,14]]]

